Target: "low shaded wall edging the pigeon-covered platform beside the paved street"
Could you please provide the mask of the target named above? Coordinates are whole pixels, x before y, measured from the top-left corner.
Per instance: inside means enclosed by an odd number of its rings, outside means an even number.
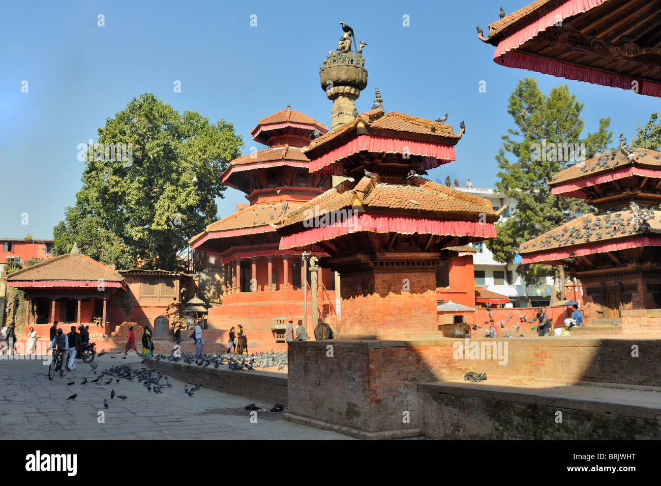
[[[208,366],[196,366],[167,360],[149,360],[155,370],[188,384],[200,384],[203,387],[239,395],[253,400],[262,400],[263,407],[272,407],[274,403],[287,405],[287,377],[267,376],[259,372],[229,371]],[[223,367],[225,368],[225,367]],[[190,386],[189,386],[190,388]],[[182,390],[183,393],[183,390]]]

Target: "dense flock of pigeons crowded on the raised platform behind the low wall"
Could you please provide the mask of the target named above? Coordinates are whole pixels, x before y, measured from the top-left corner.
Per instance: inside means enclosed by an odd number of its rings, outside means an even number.
[[[149,359],[149,358],[147,358]],[[147,359],[143,360],[145,362]],[[231,371],[254,371],[255,368],[272,368],[278,366],[282,370],[287,365],[287,352],[257,352],[253,354],[232,354],[229,352],[217,354],[193,354],[191,352],[182,354],[180,357],[174,354],[156,354],[153,359],[159,361],[166,359],[172,362],[183,361],[186,364],[195,364],[196,366],[219,366],[227,365]]]

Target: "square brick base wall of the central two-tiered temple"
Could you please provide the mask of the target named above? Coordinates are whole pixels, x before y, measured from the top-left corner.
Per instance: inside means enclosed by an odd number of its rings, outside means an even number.
[[[381,339],[438,332],[434,270],[356,272],[342,275],[338,334]]]

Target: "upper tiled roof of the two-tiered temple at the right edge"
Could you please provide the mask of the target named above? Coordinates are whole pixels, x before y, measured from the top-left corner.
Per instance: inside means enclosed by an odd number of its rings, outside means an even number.
[[[586,161],[567,167],[564,171],[560,171],[551,178],[549,185],[554,186],[563,182],[588,179],[598,174],[621,169],[622,167],[661,167],[661,152],[641,148],[633,149],[633,152],[636,154],[633,157],[629,157],[629,155],[620,149],[615,150],[615,152],[600,153],[596,157],[592,157],[592,159],[587,159]],[[661,173],[659,173],[659,177],[661,177]]]

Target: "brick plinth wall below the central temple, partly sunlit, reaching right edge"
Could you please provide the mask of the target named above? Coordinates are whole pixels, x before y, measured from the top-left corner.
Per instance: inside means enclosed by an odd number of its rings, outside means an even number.
[[[658,387],[659,344],[571,337],[294,342],[286,418],[361,438],[420,434],[417,385],[461,380],[467,371]],[[477,354],[471,346],[479,346]]]

